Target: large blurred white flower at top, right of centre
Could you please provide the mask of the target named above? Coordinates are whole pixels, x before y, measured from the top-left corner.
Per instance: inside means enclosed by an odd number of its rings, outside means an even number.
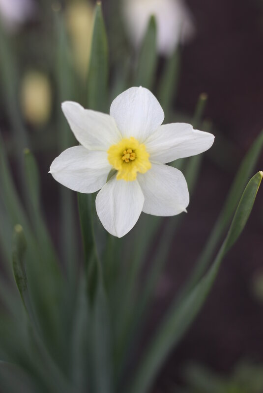
[[[179,42],[194,33],[192,17],[183,0],[123,0],[123,16],[128,34],[139,47],[146,33],[150,17],[157,24],[157,50],[170,55]]]

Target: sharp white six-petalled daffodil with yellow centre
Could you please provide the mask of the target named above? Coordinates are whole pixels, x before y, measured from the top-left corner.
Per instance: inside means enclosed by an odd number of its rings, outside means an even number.
[[[172,216],[186,211],[189,193],[183,174],[164,165],[209,149],[214,136],[190,124],[161,125],[164,112],[154,95],[131,87],[113,101],[110,114],[62,104],[81,146],[51,164],[50,173],[74,191],[96,192],[96,210],[112,235],[126,235],[140,214]],[[108,180],[110,171],[116,173]]]

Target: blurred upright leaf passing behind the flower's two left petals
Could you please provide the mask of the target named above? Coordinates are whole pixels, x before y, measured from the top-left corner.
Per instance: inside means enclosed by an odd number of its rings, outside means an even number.
[[[70,66],[69,44],[61,12],[54,12],[54,20],[56,27],[55,36],[55,59],[56,59],[56,82],[58,90],[57,102],[57,121],[58,128],[58,148],[59,152],[74,145],[76,140],[70,130],[65,117],[61,110],[61,103],[67,100],[75,99],[73,84],[77,84],[74,80],[74,72]],[[76,88],[75,90],[81,90]],[[66,187],[59,187],[60,194],[60,248],[62,252],[62,260],[67,266],[68,281],[72,286],[75,285],[77,275],[77,222],[75,220],[74,205],[76,203],[75,193]]]

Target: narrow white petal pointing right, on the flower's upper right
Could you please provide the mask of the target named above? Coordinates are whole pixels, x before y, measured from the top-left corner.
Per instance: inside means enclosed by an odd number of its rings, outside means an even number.
[[[151,161],[167,163],[203,153],[213,142],[214,135],[209,132],[193,130],[190,124],[173,123],[159,127],[145,144]]]

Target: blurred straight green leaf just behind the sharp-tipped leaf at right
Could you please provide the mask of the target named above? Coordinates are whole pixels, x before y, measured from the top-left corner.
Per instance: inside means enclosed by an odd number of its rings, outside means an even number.
[[[234,215],[234,210],[238,204],[238,201],[242,195],[242,191],[251,176],[253,168],[260,156],[263,148],[263,131],[259,134],[257,139],[252,144],[251,148],[247,152],[246,156],[243,158],[238,172],[235,176],[234,182],[231,186],[229,195],[225,201],[225,204],[220,212],[219,218],[217,219],[214,228],[207,239],[206,246],[199,257],[196,268],[192,273],[189,281],[187,282],[182,293],[186,293],[190,288],[198,282],[205,272],[205,269],[210,262],[218,243],[226,230],[227,226],[230,224],[231,218]]]

